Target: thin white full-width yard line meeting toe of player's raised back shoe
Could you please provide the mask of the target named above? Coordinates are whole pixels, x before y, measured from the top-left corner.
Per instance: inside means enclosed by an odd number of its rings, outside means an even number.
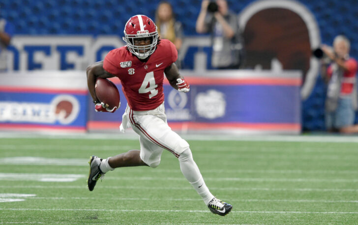
[[[138,187],[138,186],[102,186],[104,189],[137,189],[137,190],[193,190],[192,187]],[[43,186],[43,185],[1,185],[0,188],[43,188],[43,189],[87,189],[86,185],[66,185],[66,186]],[[329,188],[223,188],[210,187],[210,190],[219,191],[293,191],[293,192],[358,192],[358,189],[329,189]]]

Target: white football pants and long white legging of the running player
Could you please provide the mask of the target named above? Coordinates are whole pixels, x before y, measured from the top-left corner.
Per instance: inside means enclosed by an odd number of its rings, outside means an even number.
[[[214,197],[203,180],[203,176],[193,160],[189,144],[168,126],[164,103],[150,111],[133,111],[128,106],[123,114],[120,130],[131,126],[139,135],[140,157],[149,167],[156,168],[160,163],[163,149],[179,158],[180,170],[206,205]]]

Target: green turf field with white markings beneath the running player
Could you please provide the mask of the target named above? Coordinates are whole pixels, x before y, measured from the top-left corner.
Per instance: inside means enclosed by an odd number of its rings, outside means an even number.
[[[137,140],[0,139],[0,224],[357,224],[358,143],[188,141],[211,192],[211,214],[163,152],[159,167],[110,171],[87,189],[89,156]],[[13,158],[14,157],[14,158]]]

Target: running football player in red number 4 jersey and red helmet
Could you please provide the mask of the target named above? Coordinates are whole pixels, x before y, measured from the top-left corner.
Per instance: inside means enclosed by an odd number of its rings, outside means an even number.
[[[156,168],[163,149],[178,159],[180,170],[203,198],[210,211],[225,216],[232,205],[214,197],[193,160],[189,144],[171,130],[164,111],[164,76],[171,86],[181,92],[190,90],[189,84],[179,74],[175,61],[178,52],[175,45],[166,39],[159,39],[157,27],[144,15],[131,17],[125,24],[123,40],[126,46],[108,53],[104,61],[87,68],[89,92],[95,103],[95,110],[114,112],[104,108],[95,94],[98,77],[118,77],[127,107],[122,117],[120,131],[132,127],[140,136],[140,150],[130,150],[117,156],[101,159],[91,156],[89,160],[89,191],[94,189],[99,178],[109,170],[119,167],[149,166]]]

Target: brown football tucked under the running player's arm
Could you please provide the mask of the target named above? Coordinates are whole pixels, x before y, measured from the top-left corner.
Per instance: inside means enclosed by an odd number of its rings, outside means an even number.
[[[120,97],[116,84],[104,78],[97,78],[94,89],[98,100],[103,102],[106,108],[119,108]]]

